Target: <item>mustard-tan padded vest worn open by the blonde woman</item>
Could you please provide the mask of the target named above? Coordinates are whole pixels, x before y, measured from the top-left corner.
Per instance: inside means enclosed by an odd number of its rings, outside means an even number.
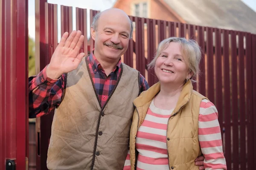
[[[136,167],[137,130],[145,119],[152,99],[159,91],[158,82],[134,100],[136,109],[130,133],[131,170]],[[202,154],[198,141],[198,116],[202,99],[207,98],[193,90],[190,80],[186,82],[167,126],[166,143],[170,170],[199,170],[195,166],[195,159]]]

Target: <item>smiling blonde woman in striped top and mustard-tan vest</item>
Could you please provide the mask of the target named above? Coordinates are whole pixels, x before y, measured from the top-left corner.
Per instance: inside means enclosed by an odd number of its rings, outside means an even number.
[[[200,59],[194,40],[160,42],[148,65],[159,82],[134,100],[124,170],[198,170],[201,154],[206,170],[227,169],[217,109],[192,86]]]

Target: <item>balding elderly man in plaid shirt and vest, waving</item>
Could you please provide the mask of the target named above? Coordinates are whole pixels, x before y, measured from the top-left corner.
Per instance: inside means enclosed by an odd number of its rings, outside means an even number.
[[[81,31],[64,33],[49,65],[29,78],[29,117],[55,110],[49,170],[123,169],[133,100],[148,89],[145,78],[121,62],[132,31],[125,12],[102,11],[91,26],[93,53],[79,54]]]

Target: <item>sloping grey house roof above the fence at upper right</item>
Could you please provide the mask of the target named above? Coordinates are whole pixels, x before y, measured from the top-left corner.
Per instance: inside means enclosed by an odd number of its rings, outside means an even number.
[[[256,12],[241,0],[163,0],[186,22],[256,34]]]

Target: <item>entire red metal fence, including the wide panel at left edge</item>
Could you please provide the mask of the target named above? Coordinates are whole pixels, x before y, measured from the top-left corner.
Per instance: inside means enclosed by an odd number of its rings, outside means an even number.
[[[27,1],[26,1],[27,2]],[[58,44],[57,6],[35,0],[36,71],[42,70]],[[0,169],[6,159],[15,159],[17,169],[26,167],[27,121],[27,3],[0,0]],[[17,12],[16,12],[17,11]],[[24,12],[26,11],[26,12]],[[89,12],[89,11],[88,11]],[[76,29],[87,35],[97,11],[76,8]],[[194,88],[217,107],[228,169],[256,167],[256,35],[241,31],[194,26],[163,20],[130,17],[134,38],[122,60],[139,70],[153,85],[157,79],[146,64],[157,44],[177,36],[198,41],[204,53]],[[71,31],[72,8],[61,6],[61,34]],[[86,37],[86,36],[85,36]],[[81,51],[92,51],[93,40],[84,41]],[[254,86],[253,86],[254,84]],[[46,170],[47,149],[53,114],[37,119],[37,170]]]

